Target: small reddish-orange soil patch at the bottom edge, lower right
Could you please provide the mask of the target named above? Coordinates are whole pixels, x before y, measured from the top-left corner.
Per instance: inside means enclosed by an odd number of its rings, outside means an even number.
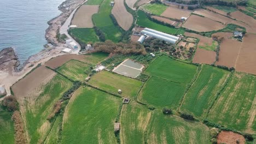
[[[236,141],[239,141],[240,144],[245,144],[245,137],[240,134],[236,134],[232,131],[222,131],[217,136],[217,143],[226,143],[226,144],[237,144]]]

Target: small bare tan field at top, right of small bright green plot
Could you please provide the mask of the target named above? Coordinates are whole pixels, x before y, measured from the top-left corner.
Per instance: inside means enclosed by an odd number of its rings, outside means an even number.
[[[191,13],[192,13],[192,11],[188,10],[188,9],[179,9],[179,8],[174,8],[174,7],[168,7],[164,11],[164,13],[161,14],[161,16],[180,20],[181,17],[189,17],[189,15]]]

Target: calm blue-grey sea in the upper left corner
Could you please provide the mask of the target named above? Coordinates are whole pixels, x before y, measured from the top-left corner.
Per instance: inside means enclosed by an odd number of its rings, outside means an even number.
[[[0,51],[14,47],[20,63],[44,49],[47,22],[65,0],[0,0]]]

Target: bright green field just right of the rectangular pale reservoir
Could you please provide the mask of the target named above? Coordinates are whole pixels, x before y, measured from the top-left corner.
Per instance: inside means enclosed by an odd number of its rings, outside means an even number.
[[[187,84],[193,79],[196,68],[196,65],[178,62],[170,57],[161,56],[149,65],[145,73]]]

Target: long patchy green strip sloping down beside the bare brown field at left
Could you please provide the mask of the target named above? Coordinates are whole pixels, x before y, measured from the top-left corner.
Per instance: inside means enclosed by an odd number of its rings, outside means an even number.
[[[46,84],[43,93],[35,100],[35,104],[26,107],[26,127],[31,137],[31,143],[37,143],[39,139],[42,140],[43,136],[39,134],[38,129],[48,122],[46,118],[53,110],[54,104],[71,86],[72,82],[60,75],[56,75]]]

